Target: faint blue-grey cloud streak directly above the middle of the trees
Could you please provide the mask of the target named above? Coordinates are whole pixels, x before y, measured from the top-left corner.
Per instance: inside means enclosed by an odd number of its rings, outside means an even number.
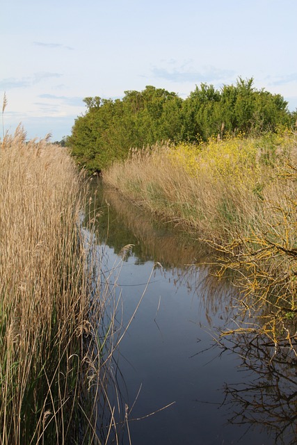
[[[172,64],[172,61],[170,61],[170,64]],[[175,67],[173,69],[154,67],[152,74],[155,77],[171,82],[200,83],[230,79],[230,77],[234,77],[235,72],[232,70],[220,70],[212,66],[202,67],[202,70],[195,71],[191,68],[187,69],[186,64],[184,64],[181,67]]]

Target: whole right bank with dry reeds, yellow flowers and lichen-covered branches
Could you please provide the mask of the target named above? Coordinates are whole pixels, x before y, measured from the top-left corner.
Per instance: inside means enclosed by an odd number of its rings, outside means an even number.
[[[221,252],[219,274],[236,271],[239,308],[262,317],[244,328],[277,344],[296,333],[296,165],[296,135],[279,131],[132,150],[103,179]]]

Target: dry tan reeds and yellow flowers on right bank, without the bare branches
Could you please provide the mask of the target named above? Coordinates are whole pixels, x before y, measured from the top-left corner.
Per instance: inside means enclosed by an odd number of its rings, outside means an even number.
[[[234,232],[248,233],[262,203],[282,196],[278,169],[287,153],[295,156],[296,145],[289,136],[273,144],[271,153],[265,140],[241,138],[155,145],[131,150],[129,159],[114,163],[103,179],[164,219],[200,237],[226,241]]]

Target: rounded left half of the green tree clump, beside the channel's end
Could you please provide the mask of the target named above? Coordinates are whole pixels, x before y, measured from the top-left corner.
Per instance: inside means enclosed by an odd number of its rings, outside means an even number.
[[[180,127],[182,99],[152,86],[143,92],[127,91],[122,100],[87,97],[84,102],[87,113],[75,121],[67,145],[90,172],[125,159],[131,147],[175,140]]]

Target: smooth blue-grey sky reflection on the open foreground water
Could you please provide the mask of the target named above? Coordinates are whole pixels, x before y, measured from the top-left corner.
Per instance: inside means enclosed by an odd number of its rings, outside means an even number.
[[[203,295],[195,291],[199,270],[187,281],[181,280],[184,271],[179,268],[153,269],[152,261],[138,264],[134,255],[119,264],[120,258],[113,248],[102,245],[100,249],[104,251],[106,269],[118,264],[111,281],[118,284],[122,302],[119,312],[123,312],[118,319],[122,318],[124,326],[134,314],[151,277],[119,347],[118,365],[123,375],[119,385],[129,407],[141,388],[130,418],[145,416],[175,402],[154,416],[131,422],[132,443],[221,445],[239,439],[243,427],[225,426],[227,407],[220,410],[218,407],[223,402],[225,382],[243,382],[249,374],[238,372],[241,363],[238,355],[219,357],[219,348],[207,350],[212,344],[214,327],[225,323],[228,317],[227,293],[222,290],[219,304],[211,302],[206,309],[208,298],[214,296],[207,293],[205,286]],[[211,310],[213,307],[215,312]],[[260,443],[257,442],[260,439],[267,445],[273,443],[259,430],[250,430],[240,443]]]

